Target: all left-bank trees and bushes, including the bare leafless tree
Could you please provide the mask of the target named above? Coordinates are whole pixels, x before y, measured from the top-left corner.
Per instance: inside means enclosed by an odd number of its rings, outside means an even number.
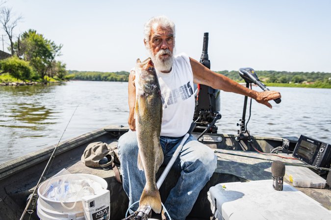
[[[0,61],[0,82],[66,79],[66,65],[55,60],[61,55],[62,44],[55,44],[32,29],[20,33],[16,38],[13,29],[22,20],[22,16],[15,17],[12,9],[4,3],[0,3],[0,26],[8,36],[11,56]]]

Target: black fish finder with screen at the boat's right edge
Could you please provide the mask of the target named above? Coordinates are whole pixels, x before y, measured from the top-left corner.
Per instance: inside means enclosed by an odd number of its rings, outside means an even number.
[[[301,135],[294,148],[293,157],[316,168],[329,168],[331,163],[331,146]]]

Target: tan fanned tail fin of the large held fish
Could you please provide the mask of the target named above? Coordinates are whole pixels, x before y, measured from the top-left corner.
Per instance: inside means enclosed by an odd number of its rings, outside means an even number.
[[[144,188],[143,193],[140,197],[139,205],[140,207],[142,205],[149,205],[155,213],[161,212],[161,197],[156,184],[152,189],[148,189],[146,187]]]

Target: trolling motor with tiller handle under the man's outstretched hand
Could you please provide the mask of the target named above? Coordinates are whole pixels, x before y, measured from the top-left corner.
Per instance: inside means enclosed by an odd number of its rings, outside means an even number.
[[[255,85],[259,86],[260,88],[263,89],[263,91],[268,91],[270,90],[269,88],[267,88],[263,83],[261,83],[261,81],[258,79],[255,70],[253,68],[250,67],[246,67],[246,68],[240,68],[239,69],[239,75],[245,80],[246,82],[246,88],[249,88],[250,84],[254,83]],[[244,108],[243,108],[243,116],[240,119],[240,124],[238,123],[237,126],[240,126],[240,129],[238,130],[238,136],[235,137],[236,141],[239,140],[248,140],[248,141],[252,141],[252,137],[249,134],[249,132],[246,130],[246,126],[245,126],[245,117],[246,117],[246,108],[247,108],[247,99],[248,97],[245,96],[245,100],[244,100]],[[281,99],[277,98],[274,99],[274,101],[277,104],[280,104]],[[252,104],[252,103],[251,103]]]

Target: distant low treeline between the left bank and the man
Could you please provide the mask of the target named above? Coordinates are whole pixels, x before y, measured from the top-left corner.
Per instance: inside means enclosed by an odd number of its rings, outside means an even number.
[[[70,77],[73,80],[84,81],[112,81],[112,82],[127,82],[129,73],[126,71],[120,72],[88,72],[88,71],[68,71]]]

